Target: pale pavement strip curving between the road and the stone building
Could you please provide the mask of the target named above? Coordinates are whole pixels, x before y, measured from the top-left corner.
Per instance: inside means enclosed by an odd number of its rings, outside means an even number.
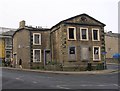
[[[95,71],[46,71],[46,70],[34,70],[34,69],[21,69],[21,68],[12,68],[12,67],[2,67],[10,70],[19,70],[19,71],[31,71],[31,72],[39,72],[39,73],[52,73],[52,74],[110,74],[110,73],[118,73],[120,70],[118,69],[106,69],[106,70],[95,70]]]

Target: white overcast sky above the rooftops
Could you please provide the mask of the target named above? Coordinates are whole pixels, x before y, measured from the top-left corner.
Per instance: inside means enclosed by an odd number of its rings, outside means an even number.
[[[51,28],[67,18],[86,13],[118,32],[119,0],[0,0],[0,27],[26,25]]]

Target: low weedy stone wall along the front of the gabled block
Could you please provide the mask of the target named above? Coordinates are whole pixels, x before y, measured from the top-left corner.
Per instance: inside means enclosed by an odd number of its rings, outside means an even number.
[[[104,64],[87,64],[87,65],[41,65],[41,66],[34,66],[32,69],[41,69],[41,70],[50,70],[50,71],[91,71],[91,70],[104,70]]]

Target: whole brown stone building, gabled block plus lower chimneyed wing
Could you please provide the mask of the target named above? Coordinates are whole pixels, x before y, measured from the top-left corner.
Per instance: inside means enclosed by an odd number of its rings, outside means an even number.
[[[30,28],[25,21],[13,36],[16,65],[47,66],[48,62],[62,65],[62,70],[85,70],[88,64],[96,68],[104,63],[105,24],[87,14],[63,20],[51,29]]]

